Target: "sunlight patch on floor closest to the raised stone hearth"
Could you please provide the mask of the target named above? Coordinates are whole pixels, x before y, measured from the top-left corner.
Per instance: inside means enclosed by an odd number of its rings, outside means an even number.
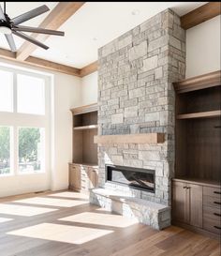
[[[135,223],[138,223],[138,220],[135,218],[125,218],[121,215],[111,215],[92,212],[84,212],[66,218],[59,218],[58,220],[104,225],[116,228],[125,228],[134,225]]]

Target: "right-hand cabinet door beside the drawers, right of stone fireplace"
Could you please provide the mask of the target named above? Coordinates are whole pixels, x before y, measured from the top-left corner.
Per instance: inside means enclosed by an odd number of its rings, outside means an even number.
[[[190,219],[189,224],[202,228],[202,186],[187,184],[190,197]]]

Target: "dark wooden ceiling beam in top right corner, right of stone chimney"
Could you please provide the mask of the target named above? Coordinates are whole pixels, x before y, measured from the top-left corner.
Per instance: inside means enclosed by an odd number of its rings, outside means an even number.
[[[196,8],[181,17],[181,26],[189,29],[200,23],[204,23],[221,14],[221,3],[211,2]]]

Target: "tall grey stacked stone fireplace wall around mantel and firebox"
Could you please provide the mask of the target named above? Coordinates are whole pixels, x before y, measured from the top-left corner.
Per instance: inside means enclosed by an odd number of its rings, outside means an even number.
[[[99,144],[99,187],[170,203],[175,98],[184,79],[185,32],[167,9],[98,51],[98,135],[163,132],[162,144]],[[105,183],[105,164],[155,170],[155,193]]]

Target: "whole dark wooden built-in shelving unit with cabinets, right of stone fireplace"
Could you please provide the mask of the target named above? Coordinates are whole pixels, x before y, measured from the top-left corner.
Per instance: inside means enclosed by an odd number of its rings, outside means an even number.
[[[172,219],[220,238],[221,72],[174,83],[175,178]]]

